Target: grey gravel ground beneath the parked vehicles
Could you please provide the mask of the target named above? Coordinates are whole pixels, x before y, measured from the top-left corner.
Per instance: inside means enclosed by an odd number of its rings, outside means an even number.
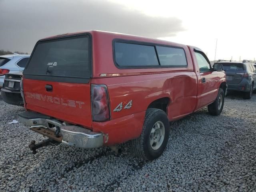
[[[164,154],[152,162],[109,148],[28,144],[41,135],[18,119],[22,107],[0,100],[0,191],[256,191],[256,95],[228,96],[220,116],[207,108],[170,124]]]

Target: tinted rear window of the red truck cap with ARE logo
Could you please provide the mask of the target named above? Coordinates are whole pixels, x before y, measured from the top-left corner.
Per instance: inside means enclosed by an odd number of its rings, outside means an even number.
[[[88,78],[89,49],[88,35],[39,42],[24,74]]]

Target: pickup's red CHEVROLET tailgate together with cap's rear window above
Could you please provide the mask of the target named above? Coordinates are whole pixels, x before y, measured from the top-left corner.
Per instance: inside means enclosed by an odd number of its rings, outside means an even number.
[[[38,41],[23,72],[26,108],[90,128],[90,36]]]

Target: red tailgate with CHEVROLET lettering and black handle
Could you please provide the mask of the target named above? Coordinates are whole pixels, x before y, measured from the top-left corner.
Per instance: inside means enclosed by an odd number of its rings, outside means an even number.
[[[47,91],[52,86],[52,91]],[[92,125],[90,83],[74,84],[23,79],[26,108],[80,124]]]

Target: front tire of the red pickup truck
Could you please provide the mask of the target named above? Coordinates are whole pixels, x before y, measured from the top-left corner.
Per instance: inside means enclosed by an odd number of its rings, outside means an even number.
[[[212,104],[208,105],[208,112],[211,115],[217,116],[222,112],[222,109],[224,106],[224,100],[225,100],[224,96],[225,96],[224,91],[222,90],[222,88],[219,88],[219,92],[218,92],[216,100]],[[222,97],[222,99],[221,99],[221,97]],[[221,106],[219,107],[220,103],[221,103]]]

